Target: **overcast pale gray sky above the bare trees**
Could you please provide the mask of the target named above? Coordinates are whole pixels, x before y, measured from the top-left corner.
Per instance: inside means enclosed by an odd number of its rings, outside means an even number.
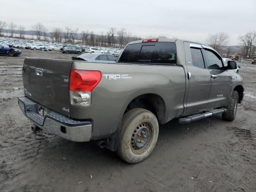
[[[256,30],[256,0],[0,0],[0,21],[46,28],[105,32],[125,28],[132,35],[164,35],[205,42],[210,33],[226,32],[229,45]]]

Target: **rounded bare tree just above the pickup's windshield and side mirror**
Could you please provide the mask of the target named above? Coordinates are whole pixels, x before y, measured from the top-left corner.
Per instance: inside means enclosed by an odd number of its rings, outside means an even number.
[[[225,46],[228,41],[229,36],[224,32],[209,34],[208,38],[206,38],[206,43],[216,51],[220,51],[221,47]]]

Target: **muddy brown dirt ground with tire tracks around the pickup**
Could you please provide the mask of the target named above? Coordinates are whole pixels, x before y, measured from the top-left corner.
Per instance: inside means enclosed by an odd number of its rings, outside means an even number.
[[[172,120],[160,126],[148,159],[127,164],[90,142],[31,132],[17,102],[25,56],[74,55],[22,50],[19,57],[0,56],[1,192],[256,191],[256,65],[239,63],[246,96],[233,122],[221,115],[190,124]]]

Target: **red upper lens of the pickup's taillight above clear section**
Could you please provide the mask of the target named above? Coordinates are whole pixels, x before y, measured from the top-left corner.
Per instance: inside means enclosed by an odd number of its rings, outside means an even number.
[[[100,80],[100,71],[72,69],[69,77],[69,89],[72,91],[92,91]]]

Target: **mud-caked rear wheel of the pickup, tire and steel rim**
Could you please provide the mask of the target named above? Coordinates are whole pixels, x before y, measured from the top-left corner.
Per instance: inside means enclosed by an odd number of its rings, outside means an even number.
[[[138,163],[153,151],[158,138],[158,120],[145,109],[134,108],[122,118],[116,154],[128,163]]]

